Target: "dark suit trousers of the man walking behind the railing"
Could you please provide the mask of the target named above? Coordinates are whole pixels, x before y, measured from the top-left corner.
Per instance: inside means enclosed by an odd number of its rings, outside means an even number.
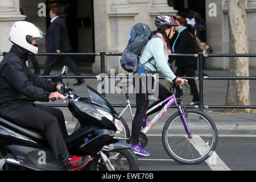
[[[79,70],[76,67],[74,60],[70,56],[47,56],[46,65],[44,67],[43,75],[49,75],[53,65],[57,61],[60,61],[60,63],[66,65],[69,69],[71,69],[71,71],[74,75],[78,75],[78,76],[81,75],[81,73],[79,72]],[[76,80],[81,80],[81,78],[80,79],[77,78]]]

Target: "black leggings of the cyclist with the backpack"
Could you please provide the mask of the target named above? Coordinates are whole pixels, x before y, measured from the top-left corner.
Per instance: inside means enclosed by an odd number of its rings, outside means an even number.
[[[139,78],[139,84],[138,88],[137,85],[135,85],[135,78],[133,80],[133,84],[136,90],[136,104],[137,104],[137,110],[135,117],[133,119],[133,124],[132,124],[132,133],[131,133],[131,143],[133,144],[138,144],[139,143],[139,135],[141,134],[141,127],[142,127],[142,121],[144,116],[146,115],[146,112],[148,109],[151,107],[159,104],[161,101],[165,100],[166,98],[171,96],[171,92],[166,89],[162,84],[159,84],[157,82],[156,84],[158,85],[159,88],[159,96],[158,98],[160,99],[159,101],[154,102],[150,107],[148,107],[150,100],[148,100],[148,93],[151,93],[152,86],[149,86],[150,90],[147,88],[147,83],[148,81],[152,80],[152,85],[154,85],[154,78],[152,76],[147,76],[147,77],[140,77]],[[155,109],[154,111],[151,111],[147,115],[151,115],[156,113],[157,111],[160,111],[164,105],[161,107]]]

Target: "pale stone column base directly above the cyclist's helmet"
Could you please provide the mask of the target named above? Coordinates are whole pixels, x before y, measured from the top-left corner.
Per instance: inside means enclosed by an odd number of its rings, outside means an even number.
[[[155,29],[155,16],[177,14],[177,12],[174,7],[168,6],[167,0],[153,0],[149,13],[151,16],[151,28]]]

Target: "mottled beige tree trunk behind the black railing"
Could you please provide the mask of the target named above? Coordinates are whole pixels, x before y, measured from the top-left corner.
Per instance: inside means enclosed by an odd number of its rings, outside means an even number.
[[[248,53],[246,0],[229,0],[230,53]],[[229,76],[249,76],[248,57],[230,57]],[[229,80],[226,105],[250,105],[249,80]],[[250,113],[251,109],[226,109],[232,113]]]

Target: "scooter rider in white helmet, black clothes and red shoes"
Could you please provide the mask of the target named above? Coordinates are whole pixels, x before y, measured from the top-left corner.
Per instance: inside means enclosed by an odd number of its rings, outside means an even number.
[[[48,102],[53,97],[65,98],[57,92],[62,85],[40,78],[25,64],[29,53],[38,53],[36,41],[44,35],[35,24],[26,21],[15,22],[11,27],[9,40],[13,46],[0,63],[0,116],[16,125],[42,131],[55,157],[63,160],[68,170],[74,171],[84,167],[90,156],[69,155],[62,111],[34,103]]]

